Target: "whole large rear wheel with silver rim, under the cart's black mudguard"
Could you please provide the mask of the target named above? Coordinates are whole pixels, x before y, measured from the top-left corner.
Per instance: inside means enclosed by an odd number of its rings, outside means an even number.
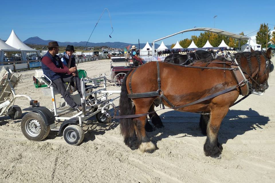
[[[50,133],[50,126],[46,126],[46,122],[40,114],[29,112],[22,118],[21,131],[27,139],[41,141]]]

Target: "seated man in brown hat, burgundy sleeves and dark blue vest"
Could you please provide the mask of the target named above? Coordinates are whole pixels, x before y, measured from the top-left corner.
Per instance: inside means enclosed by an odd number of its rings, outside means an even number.
[[[43,73],[50,78],[52,85],[60,92],[64,100],[71,106],[73,109],[81,111],[81,106],[77,105],[69,95],[69,92],[66,91],[63,83],[70,82],[72,77],[71,74],[76,73],[76,67],[68,68],[64,65],[61,59],[56,55],[59,51],[59,45],[56,41],[49,42],[48,45],[49,51],[41,59],[41,67]],[[80,79],[75,77],[76,88],[80,96],[81,85]]]

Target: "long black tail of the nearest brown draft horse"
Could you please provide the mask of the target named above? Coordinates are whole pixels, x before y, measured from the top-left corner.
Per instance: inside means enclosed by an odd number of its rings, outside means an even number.
[[[128,75],[131,73],[133,69],[131,69],[123,78],[123,83],[121,85],[121,93],[119,98],[119,110],[120,110],[120,116],[122,115],[131,115],[134,114],[135,110],[133,108],[131,99],[128,98],[128,92],[127,92],[127,86],[126,86],[126,80]],[[120,132],[122,136],[124,137],[124,142],[127,144],[127,139],[129,137],[134,136],[135,128],[132,118],[122,118],[120,119]]]

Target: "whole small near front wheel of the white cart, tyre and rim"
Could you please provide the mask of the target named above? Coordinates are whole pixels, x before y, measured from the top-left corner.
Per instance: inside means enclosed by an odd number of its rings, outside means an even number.
[[[68,144],[76,146],[84,139],[84,132],[78,125],[69,125],[63,131],[63,137]]]

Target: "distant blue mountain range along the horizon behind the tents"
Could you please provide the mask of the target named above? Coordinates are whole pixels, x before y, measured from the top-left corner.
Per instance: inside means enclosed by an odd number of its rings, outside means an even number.
[[[54,40],[44,40],[41,39],[40,37],[30,37],[28,39],[26,39],[25,41],[23,41],[23,43],[25,44],[37,44],[37,45],[48,45],[48,43],[50,41],[54,41]],[[74,46],[85,46],[86,45],[86,41],[80,41],[78,42],[58,42],[59,46],[67,46],[67,45],[74,45]],[[93,47],[93,46],[108,46],[111,48],[124,48],[128,45],[135,45],[136,47],[138,47],[138,44],[133,44],[133,43],[122,43],[122,42],[105,42],[105,43],[91,43],[88,42],[87,43],[87,47]],[[146,45],[146,43],[140,43],[140,49],[142,49],[144,46]],[[155,44],[155,48],[159,47],[160,45]],[[170,45],[167,46],[168,48],[170,48]]]

